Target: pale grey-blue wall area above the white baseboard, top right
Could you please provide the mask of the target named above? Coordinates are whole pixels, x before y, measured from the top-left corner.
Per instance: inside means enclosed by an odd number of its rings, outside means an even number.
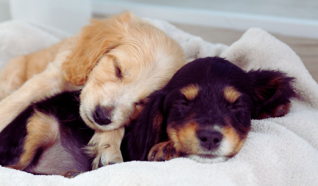
[[[112,0],[232,13],[318,20],[317,0]]]

